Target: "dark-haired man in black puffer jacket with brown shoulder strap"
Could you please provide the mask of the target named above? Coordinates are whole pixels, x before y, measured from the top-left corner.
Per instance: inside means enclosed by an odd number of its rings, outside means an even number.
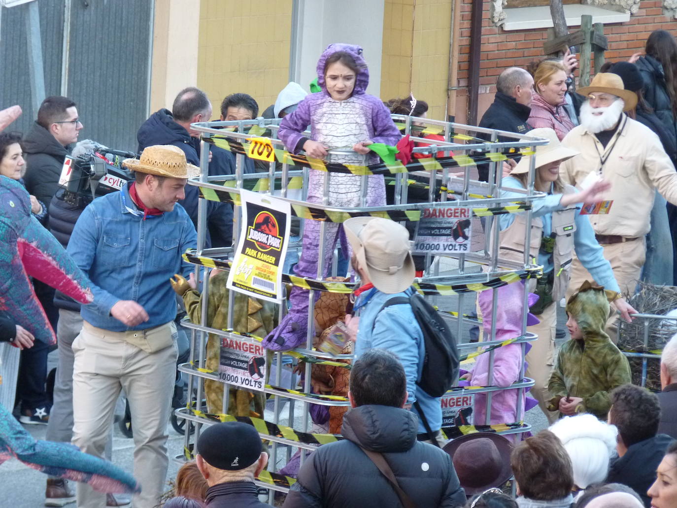
[[[416,416],[403,409],[406,388],[404,368],[391,352],[368,350],[356,360],[348,392],[352,409],[341,429],[345,440],[313,452],[284,507],[401,507],[393,485],[363,450],[383,455],[416,506],[463,506],[465,492],[450,456],[416,440]]]

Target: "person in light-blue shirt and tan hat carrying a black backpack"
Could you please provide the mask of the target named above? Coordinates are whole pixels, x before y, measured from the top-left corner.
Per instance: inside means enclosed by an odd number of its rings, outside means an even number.
[[[380,310],[389,299],[409,297],[414,292],[411,285],[416,272],[409,233],[397,222],[380,217],[353,217],[343,227],[353,247],[353,268],[363,284],[355,291],[353,308],[359,311],[359,329],[357,318],[346,319],[349,330],[356,335],[355,358],[372,347],[397,355],[407,377],[409,396],[405,408],[411,408],[418,416],[418,440],[434,438],[442,446],[439,398],[429,396],[416,385],[423,369],[425,343],[412,307],[401,303]],[[435,436],[428,436],[416,407],[412,408],[414,402],[420,405]]]

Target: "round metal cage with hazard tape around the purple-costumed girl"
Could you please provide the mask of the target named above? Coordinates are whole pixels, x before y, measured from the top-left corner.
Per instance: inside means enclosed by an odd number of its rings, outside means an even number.
[[[410,134],[412,140],[422,142],[426,146],[417,146],[413,153],[422,158],[414,158],[407,165],[401,163],[387,164],[378,163],[362,166],[348,166],[334,164],[329,161],[319,161],[303,155],[291,154],[284,144],[277,139],[276,133],[280,120],[254,119],[250,121],[222,121],[195,123],[192,128],[201,133],[200,142],[200,169],[201,174],[189,180],[188,184],[198,186],[200,189],[200,203],[198,205],[198,245],[196,251],[188,252],[184,258],[196,265],[196,280],[200,280],[200,272],[204,267],[218,267],[227,270],[229,268],[229,255],[234,252],[234,247],[205,248],[206,238],[206,200],[229,201],[234,204],[234,227],[233,245],[238,245],[238,236],[242,225],[239,194],[242,189],[255,190],[263,194],[272,194],[290,203],[292,213],[304,219],[321,221],[320,235],[320,261],[318,261],[318,274],[315,279],[299,281],[293,274],[283,276],[283,282],[290,284],[305,284],[310,287],[310,312],[308,319],[308,332],[305,345],[297,347],[290,352],[274,352],[270,360],[270,366],[275,367],[274,375],[265,383],[263,391],[268,397],[269,409],[261,419],[244,418],[254,425],[263,440],[269,442],[270,460],[268,470],[263,471],[256,483],[259,487],[267,488],[269,495],[274,490],[287,492],[292,478],[280,475],[276,471],[279,465],[288,461],[292,451],[314,450],[328,442],[341,439],[326,433],[313,433],[310,428],[309,404],[321,406],[348,406],[347,399],[338,396],[321,396],[311,394],[311,363],[336,362],[352,358],[352,355],[337,355],[320,352],[313,349],[314,323],[313,302],[317,291],[330,291],[349,293],[359,284],[347,282],[345,284],[322,284],[322,253],[327,249],[324,242],[324,229],[328,221],[343,221],[348,217],[358,215],[375,215],[389,217],[393,220],[404,219],[416,221],[420,217],[422,209],[443,207],[468,207],[473,211],[473,226],[477,230],[485,231],[483,240],[475,241],[475,250],[468,253],[454,253],[453,255],[426,255],[427,270],[422,278],[415,280],[414,287],[424,297],[432,299],[433,303],[441,312],[443,318],[450,324],[458,341],[458,347],[463,358],[470,360],[479,354],[489,355],[489,383],[483,387],[453,387],[447,392],[450,396],[473,396],[478,393],[486,396],[487,423],[491,419],[492,395],[504,389],[517,389],[518,406],[517,418],[514,422],[501,422],[500,425],[452,425],[443,427],[448,438],[458,437],[463,433],[471,433],[478,430],[496,431],[502,434],[523,433],[530,429],[524,423],[524,407],[521,403],[525,390],[533,385],[533,380],[524,376],[524,357],[527,342],[536,340],[536,335],[526,331],[527,323],[527,297],[522,313],[522,333],[519,337],[511,339],[510,343],[521,346],[522,362],[519,379],[509,387],[503,388],[494,385],[494,355],[498,347],[505,342],[495,340],[496,312],[498,299],[496,289],[505,284],[519,283],[525,280],[527,283],[534,280],[542,273],[542,267],[537,266],[529,259],[529,253],[525,252],[523,263],[508,261],[499,257],[499,228],[497,217],[503,213],[525,213],[525,245],[530,245],[531,228],[531,202],[542,197],[544,194],[534,190],[534,162],[531,157],[531,166],[528,173],[528,185],[526,189],[510,188],[510,192],[519,192],[521,196],[502,197],[502,191],[508,190],[502,186],[502,163],[508,158],[517,158],[532,154],[538,145],[547,144],[547,140],[529,135],[517,135],[504,131],[482,129],[470,125],[446,123],[428,119],[412,119],[401,115],[393,115],[393,121],[403,134]],[[441,135],[443,140],[427,140],[418,137],[429,133]],[[267,137],[271,146],[274,147],[275,160],[267,163],[267,171],[246,173],[245,158],[248,156],[250,140],[253,137]],[[482,137],[492,141],[486,141]],[[498,142],[498,137],[507,138],[507,142]],[[225,150],[230,150],[236,156],[236,173],[234,175],[209,175],[209,146],[213,144]],[[443,152],[444,156],[439,156]],[[452,152],[448,154],[447,152]],[[479,182],[471,177],[471,169],[478,163],[489,166],[489,182]],[[362,198],[361,207],[341,208],[328,204],[327,193],[322,203],[309,203],[305,200],[308,185],[307,168],[324,171],[324,189],[328,189],[329,174],[332,171],[353,173],[362,175]],[[385,175],[386,184],[394,186],[393,205],[380,207],[366,207],[365,192],[366,176],[370,174]],[[408,190],[411,186],[419,186],[428,189],[429,199],[425,203],[410,203]],[[480,224],[482,217],[482,224]],[[290,251],[299,251],[301,241],[290,243]],[[334,263],[336,266],[336,263]],[[309,285],[311,283],[311,285]],[[528,284],[527,284],[528,287]],[[321,289],[317,289],[321,288]],[[472,316],[475,308],[475,294],[478,291],[493,291],[492,309],[492,336],[485,337],[481,343],[473,343],[468,340],[468,329],[471,326],[481,326],[481,321]],[[227,415],[229,404],[229,389],[224,383],[223,407],[218,415],[206,413],[203,403],[204,379],[219,380],[216,372],[205,368],[205,348],[207,334],[215,334],[222,339],[238,339],[248,343],[260,344],[261,337],[236,333],[233,330],[234,323],[234,292],[230,291],[230,299],[226,329],[219,330],[207,326],[207,295],[209,295],[209,277],[204,276],[202,286],[202,324],[184,321],[183,326],[190,329],[191,354],[190,361],[179,366],[179,370],[188,374],[188,403],[186,407],[175,410],[177,417],[188,420],[185,425],[185,446],[183,456],[179,460],[192,457],[193,442],[197,439],[202,425],[211,425],[218,421],[232,421],[233,415]],[[278,308],[278,318],[284,316],[286,305],[284,301]],[[479,350],[479,346],[485,349]],[[290,386],[282,386],[282,375],[285,371],[284,364],[305,364],[304,375],[290,375]],[[340,365],[349,368],[345,363]],[[288,371],[287,371],[288,373]],[[300,409],[299,409],[300,407]],[[194,425],[196,433],[191,434],[188,429]],[[305,453],[301,452],[301,463],[305,460]]]

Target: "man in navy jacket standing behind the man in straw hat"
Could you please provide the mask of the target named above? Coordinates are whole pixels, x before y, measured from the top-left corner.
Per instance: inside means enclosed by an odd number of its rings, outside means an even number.
[[[200,165],[200,132],[190,124],[209,122],[212,105],[204,91],[188,87],[179,92],[172,110],[160,109],[150,115],[136,134],[141,153],[152,145],[173,145],[185,153],[189,164]],[[235,165],[232,154],[217,147],[211,148],[209,175],[232,175]],[[185,186],[185,198],[179,203],[188,212],[195,227],[198,227],[198,197],[196,186]],[[207,201],[206,247],[230,247],[233,238],[233,209],[230,203]]]

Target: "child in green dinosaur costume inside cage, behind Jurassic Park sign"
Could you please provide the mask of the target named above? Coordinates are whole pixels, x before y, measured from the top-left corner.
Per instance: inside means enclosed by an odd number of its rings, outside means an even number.
[[[188,318],[200,324],[202,315],[202,295],[194,289],[185,278],[177,275],[172,280],[172,287],[177,295],[183,298]],[[212,270],[209,279],[209,301],[207,303],[207,326],[217,330],[227,328],[228,295],[225,287],[228,272]],[[277,325],[277,307],[274,303],[259,301],[242,293],[235,293],[235,308],[233,312],[233,329],[236,332],[251,333],[265,337]],[[209,334],[206,347],[205,367],[210,371],[219,370],[219,355],[221,354],[221,339]],[[269,356],[272,354],[269,352]],[[267,358],[270,364],[270,358]],[[223,406],[223,383],[211,379],[204,380],[204,392],[207,400],[207,411],[213,414],[221,413]],[[230,388],[228,398],[228,414],[236,417],[263,417],[265,394],[248,391],[246,389]]]

